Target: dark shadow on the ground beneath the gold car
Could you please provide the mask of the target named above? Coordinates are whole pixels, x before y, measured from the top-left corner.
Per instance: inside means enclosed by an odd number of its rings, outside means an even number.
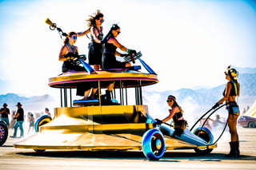
[[[140,151],[46,151],[46,152],[17,152],[22,156],[45,156],[56,158],[86,158],[86,159],[111,159],[111,160],[147,160]],[[195,152],[165,152],[158,161],[199,160],[199,161],[222,161],[222,160],[256,160],[256,156],[242,155],[239,158],[228,158],[222,153],[210,153],[199,156]]]

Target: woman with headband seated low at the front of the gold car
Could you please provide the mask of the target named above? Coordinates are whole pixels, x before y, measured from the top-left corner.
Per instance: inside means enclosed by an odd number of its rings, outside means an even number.
[[[166,121],[170,121],[170,119],[172,118],[174,121],[174,135],[177,136],[181,136],[183,131],[186,128],[186,121],[183,118],[183,110],[182,108],[178,105],[177,101],[176,101],[176,97],[169,95],[167,98],[167,105],[169,105],[169,107],[171,109],[169,109],[169,115],[164,118],[162,121],[156,119],[156,125],[161,125],[162,123],[166,122]]]

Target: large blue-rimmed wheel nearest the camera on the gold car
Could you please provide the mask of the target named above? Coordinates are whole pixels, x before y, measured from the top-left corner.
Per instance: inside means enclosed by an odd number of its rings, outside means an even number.
[[[152,128],[142,136],[142,151],[149,160],[159,160],[166,150],[162,132]]]

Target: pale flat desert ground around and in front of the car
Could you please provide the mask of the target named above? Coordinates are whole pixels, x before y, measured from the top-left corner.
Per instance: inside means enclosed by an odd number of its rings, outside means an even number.
[[[174,150],[167,151],[158,161],[147,160],[142,151],[34,152],[31,149],[14,148],[14,142],[20,139],[8,137],[0,147],[0,169],[256,169],[255,132],[256,128],[238,127],[240,158],[225,157],[230,149],[230,137],[226,131],[218,141],[218,148],[214,148],[209,155],[197,156],[194,150]],[[10,129],[9,135],[12,134],[13,130]]]

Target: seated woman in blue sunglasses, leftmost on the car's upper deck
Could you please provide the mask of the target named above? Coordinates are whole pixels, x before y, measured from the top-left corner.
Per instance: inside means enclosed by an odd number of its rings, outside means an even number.
[[[74,58],[78,55],[78,47],[74,45],[77,41],[77,34],[75,32],[70,32],[64,41],[64,45],[59,53],[58,60],[64,61],[62,65],[62,72],[66,73],[71,70],[75,71],[84,71],[86,70],[84,67],[80,65],[76,65],[74,63]],[[90,94],[90,89],[92,92]],[[82,100],[87,100],[90,94],[91,98],[94,98],[94,95],[97,91],[97,85],[88,84],[88,83],[81,83],[78,85],[77,95],[83,96]]]

